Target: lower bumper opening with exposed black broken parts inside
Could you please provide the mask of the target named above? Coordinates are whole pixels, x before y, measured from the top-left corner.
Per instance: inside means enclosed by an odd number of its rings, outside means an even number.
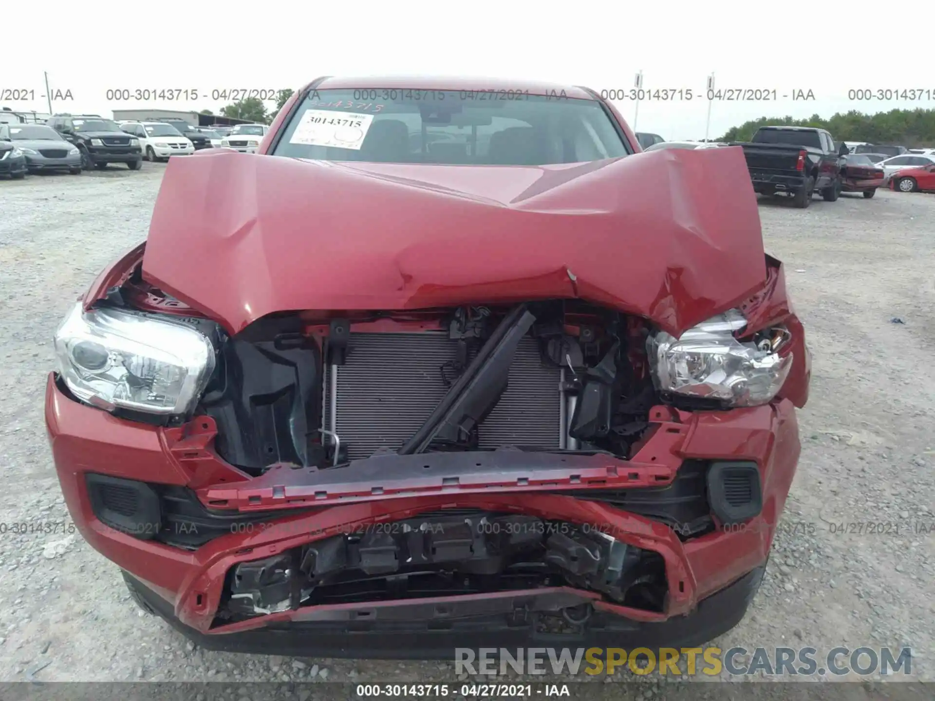
[[[661,611],[661,555],[599,528],[445,511],[349,529],[228,573],[223,622],[300,607],[571,586]]]

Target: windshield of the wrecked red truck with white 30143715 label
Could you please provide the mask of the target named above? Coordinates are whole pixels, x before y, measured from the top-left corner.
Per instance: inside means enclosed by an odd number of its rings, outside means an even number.
[[[617,158],[627,150],[596,100],[321,90],[305,99],[272,152],[327,161],[547,165]]]

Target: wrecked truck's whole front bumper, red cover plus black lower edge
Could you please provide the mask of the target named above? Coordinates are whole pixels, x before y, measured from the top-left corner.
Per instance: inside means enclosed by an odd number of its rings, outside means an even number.
[[[626,483],[627,488],[661,485],[667,475],[669,480],[674,478],[679,465],[688,459],[754,461],[763,485],[760,514],[742,529],[719,530],[683,542],[663,523],[587,500],[589,487],[586,485],[576,489],[574,495],[568,495],[570,485],[566,481],[560,487],[565,494],[554,494],[559,487],[557,482],[550,481],[552,473],[549,480],[519,481],[525,484],[523,489],[506,486],[491,489],[489,479],[482,484],[478,483],[482,480],[472,481],[469,474],[463,483],[454,487],[450,486],[450,478],[439,479],[439,487],[435,489],[415,479],[411,490],[396,493],[387,490],[379,496],[370,494],[370,485],[364,482],[351,485],[332,482],[324,494],[352,494],[356,489],[358,496],[325,498],[322,507],[296,514],[296,506],[309,508],[308,503],[303,505],[296,501],[301,498],[300,494],[311,494],[309,501],[316,501],[314,471],[272,469],[262,478],[250,479],[224,463],[211,449],[213,434],[209,420],[198,419],[181,428],[124,421],[71,399],[58,386],[54,374],[50,374],[48,380],[45,417],[65,502],[79,531],[95,550],[140,582],[138,586],[145,589],[141,595],[153,602],[152,608],[182,632],[198,639],[210,638],[206,647],[231,646],[226,649],[270,652],[271,640],[275,638],[282,641],[282,650],[310,654],[312,650],[324,653],[317,646],[323,640],[330,640],[327,645],[333,647],[328,647],[327,653],[331,656],[338,654],[338,650],[349,656],[361,656],[367,651],[380,656],[406,656],[410,652],[401,649],[400,636],[411,637],[413,656],[428,657],[435,656],[430,653],[450,643],[465,647],[460,643],[468,639],[478,644],[486,641],[492,647],[502,647],[507,637],[511,642],[543,639],[536,637],[539,634],[532,628],[511,630],[505,623],[504,617],[508,614],[497,608],[496,602],[512,610],[515,607],[511,601],[522,599],[516,592],[443,597],[444,602],[439,599],[369,602],[364,607],[370,611],[367,616],[374,616],[373,620],[378,622],[385,621],[386,625],[377,625],[376,637],[366,639],[353,632],[360,625],[349,618],[349,607],[345,605],[299,608],[243,622],[213,625],[224,578],[232,566],[255,560],[260,553],[266,557],[295,548],[324,537],[328,529],[348,523],[393,521],[447,507],[484,508],[567,522],[607,524],[618,539],[658,552],[665,561],[669,590],[669,599],[661,613],[611,604],[591,592],[564,592],[595,599],[592,603],[605,625],[603,632],[591,626],[594,630],[588,634],[589,640],[611,641],[612,638],[619,643],[619,636],[624,632],[632,633],[637,639],[658,636],[669,643],[680,636],[686,640],[714,637],[742,617],[748,597],[738,594],[755,591],[754,582],[758,582],[758,578],[751,573],[767,560],[800,450],[795,408],[784,400],[770,406],[726,412],[691,413],[655,408],[651,418],[658,427],[632,461],[567,456],[568,470],[581,473],[572,476],[577,478],[577,482],[570,480],[572,485],[586,482],[583,476],[590,475],[593,465],[603,461],[600,468],[605,476],[603,483],[591,485],[602,489],[616,487],[617,482]],[[530,459],[535,459],[536,455],[531,453]],[[489,452],[470,454],[471,460],[478,463],[496,459],[490,456]],[[425,464],[436,460],[434,454],[413,457]],[[225,533],[197,550],[186,551],[138,539],[98,521],[85,480],[89,472],[185,486],[198,494],[203,503],[212,502],[214,508],[223,504],[234,513],[263,511],[274,515],[281,513],[282,518],[273,522],[279,527]],[[561,478],[555,479],[561,481]],[[321,493],[322,490],[319,485],[317,491]],[[744,579],[748,575],[750,579]],[[741,581],[746,583],[740,584]],[[735,594],[716,600],[728,602],[728,610],[717,612],[720,604],[705,604],[702,608],[709,597],[735,582],[740,586]],[[481,598],[483,606],[470,608],[472,598]],[[439,630],[444,626],[439,626],[431,617],[427,622],[424,616],[416,622],[410,621],[411,612],[401,618],[394,615],[404,608],[414,610],[434,605],[441,605],[439,610],[447,610],[449,604],[468,606],[465,620],[450,630]],[[471,626],[471,637],[463,637],[462,631]],[[417,642],[415,638],[424,635],[429,628],[437,637],[425,637],[423,642]],[[392,639],[381,642],[381,636]],[[577,638],[555,638],[558,639],[569,643]],[[447,651],[444,654],[447,655]]]

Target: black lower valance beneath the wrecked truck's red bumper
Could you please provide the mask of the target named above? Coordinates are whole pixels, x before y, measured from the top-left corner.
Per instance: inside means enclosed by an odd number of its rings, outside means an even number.
[[[123,572],[137,603],[207,650],[279,654],[297,657],[381,659],[453,659],[457,648],[540,647],[697,647],[741,621],[753,601],[765,565],[698,603],[686,616],[662,622],[637,622],[596,612],[579,632],[544,633],[530,593],[476,598],[446,597],[388,606],[336,606],[320,611],[317,620],[270,622],[264,628],[205,635],[185,625],[171,605],[143,582]],[[540,590],[539,590],[540,591]],[[539,594],[541,607],[577,601],[575,590]],[[586,600],[587,593],[579,596]],[[455,601],[461,599],[462,601]],[[453,608],[458,607],[460,608]],[[324,608],[324,607],[321,607]],[[359,615],[366,612],[367,615]],[[454,615],[453,615],[454,614]]]

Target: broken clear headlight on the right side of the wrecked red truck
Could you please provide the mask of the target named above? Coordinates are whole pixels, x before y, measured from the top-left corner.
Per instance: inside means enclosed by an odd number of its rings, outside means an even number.
[[[770,329],[754,341],[733,336],[746,326],[730,309],[688,329],[679,338],[660,331],[646,342],[653,381],[660,392],[705,397],[732,407],[766,404],[782,388],[792,353],[777,350],[788,340],[784,329]]]

